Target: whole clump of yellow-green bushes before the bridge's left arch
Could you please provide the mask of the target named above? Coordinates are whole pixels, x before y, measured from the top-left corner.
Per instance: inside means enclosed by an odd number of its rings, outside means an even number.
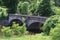
[[[5,37],[10,37],[12,35],[22,36],[27,33],[25,25],[19,26],[19,24],[16,24],[15,22],[13,23],[12,27],[2,27],[1,32]]]

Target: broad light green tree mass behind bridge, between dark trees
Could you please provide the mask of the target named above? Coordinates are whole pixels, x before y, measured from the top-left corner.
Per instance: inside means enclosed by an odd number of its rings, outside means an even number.
[[[42,0],[28,0],[28,1],[20,1],[18,3],[17,11],[21,14],[27,14],[28,15],[37,15],[36,11],[37,8]]]

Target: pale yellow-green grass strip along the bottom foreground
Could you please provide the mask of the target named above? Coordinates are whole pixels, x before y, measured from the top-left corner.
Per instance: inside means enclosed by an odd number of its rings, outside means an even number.
[[[36,35],[24,35],[21,37],[3,37],[0,38],[0,40],[51,40],[49,36],[42,36],[41,34],[36,34]]]

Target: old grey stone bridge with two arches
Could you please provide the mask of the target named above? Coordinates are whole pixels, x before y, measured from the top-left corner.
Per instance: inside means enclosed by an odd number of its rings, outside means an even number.
[[[25,18],[25,22],[22,21],[22,18]],[[41,29],[43,23],[46,21],[47,17],[41,16],[28,16],[20,14],[10,14],[9,23],[12,24],[13,21],[18,22],[20,25],[26,23],[27,29]]]

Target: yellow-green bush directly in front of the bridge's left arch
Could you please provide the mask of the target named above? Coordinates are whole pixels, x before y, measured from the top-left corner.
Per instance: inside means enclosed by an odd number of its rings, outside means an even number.
[[[12,29],[13,29],[15,35],[20,35],[21,36],[21,35],[24,35],[26,33],[25,25],[19,26],[19,24],[13,23]]]

